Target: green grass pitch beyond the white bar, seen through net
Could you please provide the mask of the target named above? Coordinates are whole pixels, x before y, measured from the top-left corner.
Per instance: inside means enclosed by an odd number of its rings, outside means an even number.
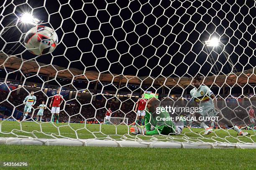
[[[74,123],[59,123],[52,124],[50,122],[0,122],[1,132],[0,137],[20,137],[30,136],[37,138],[63,138],[69,137],[74,139],[105,139],[111,137],[115,140],[120,140],[123,136],[128,139],[134,139],[136,136],[129,133],[129,128],[126,125],[106,125],[106,124],[74,124]],[[176,141],[185,142],[201,141],[201,142],[256,142],[256,131],[244,130],[249,133],[248,137],[238,136],[237,132],[230,129],[227,131],[215,129],[214,133],[203,136],[203,129],[188,129],[184,128],[181,135],[172,135]],[[137,137],[143,140],[152,140],[152,136]],[[167,141],[168,137],[163,135],[154,135],[162,141]]]

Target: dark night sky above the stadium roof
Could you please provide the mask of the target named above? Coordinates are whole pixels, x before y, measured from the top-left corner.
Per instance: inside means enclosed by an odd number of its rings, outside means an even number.
[[[14,13],[20,15],[34,8],[33,15],[43,20],[43,25],[51,25],[59,36],[53,53],[36,58],[46,64],[55,56],[52,64],[58,66],[67,67],[70,60],[75,61],[70,67],[86,66],[86,70],[109,70],[113,74],[191,77],[200,72],[207,76],[215,74],[209,54],[217,61],[221,74],[230,73],[226,52],[238,71],[253,68],[256,1],[191,1],[71,0],[67,4],[68,0],[46,0],[44,6],[43,0],[28,0],[24,4],[25,0],[15,0],[14,10],[7,0],[5,8],[3,1],[0,3],[0,11],[4,9],[0,19],[6,26],[17,20]],[[26,33],[31,25],[18,27]],[[18,41],[22,33],[13,27],[0,41]],[[222,47],[204,47],[202,42],[210,36],[220,37]],[[8,43],[3,48],[3,44],[0,43],[1,52],[14,45]],[[25,59],[36,57],[24,47],[13,54]]]

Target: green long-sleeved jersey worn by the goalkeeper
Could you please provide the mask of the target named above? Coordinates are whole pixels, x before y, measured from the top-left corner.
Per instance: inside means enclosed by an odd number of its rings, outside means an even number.
[[[161,110],[161,109],[160,109]],[[160,114],[154,113],[154,117],[151,116],[151,113],[148,112],[148,108],[146,108],[145,115],[145,125],[146,125],[146,135],[154,135],[154,134],[164,134],[168,135],[170,133],[175,133],[176,126],[174,126],[174,122],[171,120],[162,120],[161,118],[170,118],[168,112],[161,112]],[[154,130],[151,130],[151,125],[155,127]]]

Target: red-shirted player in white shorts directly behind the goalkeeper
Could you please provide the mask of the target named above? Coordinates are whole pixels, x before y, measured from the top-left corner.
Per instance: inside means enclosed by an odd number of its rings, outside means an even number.
[[[140,116],[141,116],[141,126],[144,125],[144,116],[146,114],[146,112],[145,112],[146,104],[147,104],[147,99],[144,99],[144,94],[142,94],[141,99],[138,99],[136,107],[135,107],[135,112],[137,113],[137,117],[136,117],[137,125],[138,125]]]

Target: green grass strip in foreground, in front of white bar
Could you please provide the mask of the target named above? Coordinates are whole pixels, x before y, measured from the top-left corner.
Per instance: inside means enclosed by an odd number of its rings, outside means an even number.
[[[255,150],[250,149],[0,145],[0,150],[4,151],[0,154],[1,162],[28,162],[28,167],[23,169],[256,169]]]

